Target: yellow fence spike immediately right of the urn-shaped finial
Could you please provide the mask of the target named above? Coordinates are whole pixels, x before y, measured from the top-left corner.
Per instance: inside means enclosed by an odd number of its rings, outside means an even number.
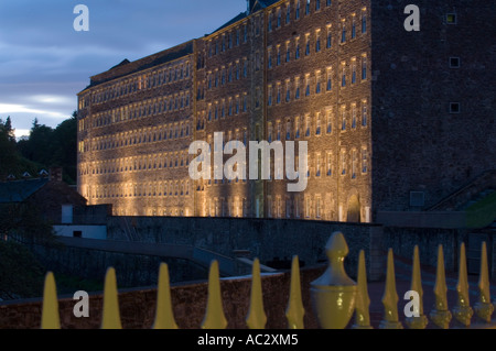
[[[353,329],[373,329],[369,315],[370,298],[367,288],[367,270],[365,266],[365,251],[358,255],[357,296],[355,307],[355,325]]]

